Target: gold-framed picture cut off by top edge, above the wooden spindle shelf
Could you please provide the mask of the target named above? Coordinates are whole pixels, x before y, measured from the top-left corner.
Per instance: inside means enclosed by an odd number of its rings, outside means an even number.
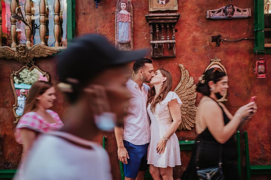
[[[149,0],[149,11],[178,10],[177,0]]]

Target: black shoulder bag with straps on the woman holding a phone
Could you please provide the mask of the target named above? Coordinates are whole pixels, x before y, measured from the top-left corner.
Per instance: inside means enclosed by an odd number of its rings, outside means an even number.
[[[202,169],[199,167],[199,153],[201,141],[197,140],[196,168],[199,180],[224,180],[222,171],[222,144],[219,146],[219,161],[217,166]]]

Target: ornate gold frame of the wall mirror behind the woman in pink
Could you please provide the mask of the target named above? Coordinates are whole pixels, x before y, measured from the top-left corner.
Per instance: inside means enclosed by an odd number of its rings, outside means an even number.
[[[38,66],[36,66],[36,65],[34,65],[34,64],[32,64],[31,67],[23,66],[23,67],[21,67],[19,70],[13,71],[13,72],[11,73],[10,81],[11,81],[11,87],[12,87],[12,89],[13,89],[14,97],[15,97],[15,104],[13,105],[13,114],[14,114],[16,120],[13,122],[14,124],[16,124],[16,123],[19,121],[20,117],[21,117],[21,116],[18,116],[18,115],[16,114],[17,105],[18,105],[18,100],[17,100],[17,94],[16,94],[16,90],[15,90],[15,86],[14,86],[14,76],[17,76],[17,75],[18,75],[20,72],[22,72],[22,70],[24,70],[24,69],[28,69],[29,71],[32,71],[34,68],[37,68],[37,69],[39,70],[39,72],[42,73],[43,77],[46,76],[46,77],[47,77],[47,82],[49,82],[49,80],[50,80],[49,74],[48,74],[47,72],[42,71]]]

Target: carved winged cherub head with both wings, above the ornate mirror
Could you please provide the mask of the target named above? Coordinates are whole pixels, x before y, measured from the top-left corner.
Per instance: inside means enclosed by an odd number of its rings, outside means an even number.
[[[30,48],[25,44],[19,44],[15,49],[9,46],[0,47],[0,58],[15,59],[21,63],[33,63],[34,57],[46,57],[57,52],[58,50],[41,44],[36,44]]]

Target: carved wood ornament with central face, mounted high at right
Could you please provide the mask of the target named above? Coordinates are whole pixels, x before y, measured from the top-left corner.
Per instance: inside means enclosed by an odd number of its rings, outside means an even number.
[[[232,4],[215,10],[207,10],[206,19],[241,19],[251,16],[251,9],[242,9]]]

